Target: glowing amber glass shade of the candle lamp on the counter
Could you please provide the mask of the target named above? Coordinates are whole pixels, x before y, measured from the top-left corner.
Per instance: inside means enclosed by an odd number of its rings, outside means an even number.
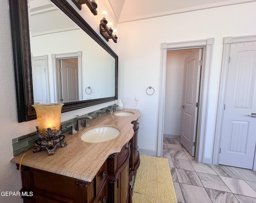
[[[61,109],[63,103],[42,103],[32,105],[36,109],[38,133],[45,135],[47,128],[54,133],[61,129]]]

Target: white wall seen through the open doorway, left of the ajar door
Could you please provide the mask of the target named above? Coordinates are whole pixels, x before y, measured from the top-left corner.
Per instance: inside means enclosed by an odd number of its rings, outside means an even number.
[[[164,103],[164,135],[180,136],[185,59],[193,49],[167,51]]]

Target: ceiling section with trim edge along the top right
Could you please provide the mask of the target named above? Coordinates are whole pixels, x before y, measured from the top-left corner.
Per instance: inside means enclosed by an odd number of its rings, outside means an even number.
[[[183,12],[256,2],[256,0],[108,0],[118,23]]]

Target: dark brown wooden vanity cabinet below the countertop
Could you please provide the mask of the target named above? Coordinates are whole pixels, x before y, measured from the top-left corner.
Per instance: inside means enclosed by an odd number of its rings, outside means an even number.
[[[131,203],[129,183],[140,165],[138,120],[132,123],[132,139],[119,153],[109,155],[92,182],[22,165],[21,192],[28,194],[23,197],[24,203]]]

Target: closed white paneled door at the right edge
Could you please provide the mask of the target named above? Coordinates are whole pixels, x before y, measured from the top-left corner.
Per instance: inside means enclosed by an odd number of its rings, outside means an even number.
[[[231,44],[219,164],[252,169],[256,144],[253,113],[256,113],[256,43]]]

